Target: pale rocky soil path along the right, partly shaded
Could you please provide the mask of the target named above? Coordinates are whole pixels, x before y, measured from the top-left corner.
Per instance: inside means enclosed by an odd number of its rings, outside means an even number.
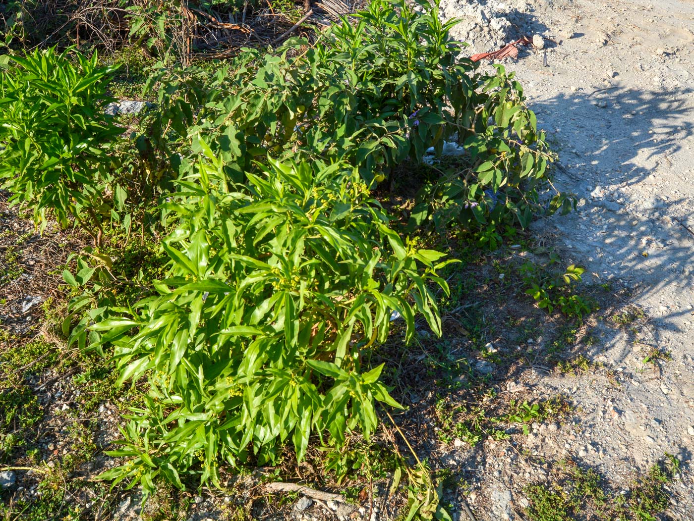
[[[578,456],[617,482],[676,454],[685,471],[668,514],[692,520],[694,1],[444,0],[441,13],[463,18],[454,32],[471,54],[542,37],[544,49],[505,65],[559,151],[557,187],[574,191],[579,208],[534,230],[552,234],[593,282],[631,289],[650,319],[631,333],[598,325],[586,355],[613,368],[618,385],[591,373],[524,375],[537,393],[567,393],[582,409],[579,423],[534,429],[532,453]],[[661,370],[643,363],[653,347],[672,354]],[[481,519],[521,520],[524,476],[543,471],[502,463],[483,472],[471,506],[484,505]]]

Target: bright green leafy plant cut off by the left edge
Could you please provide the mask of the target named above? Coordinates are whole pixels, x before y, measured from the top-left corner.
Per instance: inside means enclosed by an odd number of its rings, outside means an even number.
[[[0,179],[10,201],[29,205],[45,228],[48,214],[74,218],[95,239],[110,216],[113,186],[109,151],[122,132],[103,112],[108,78],[96,53],[33,51],[12,56],[0,76]]]

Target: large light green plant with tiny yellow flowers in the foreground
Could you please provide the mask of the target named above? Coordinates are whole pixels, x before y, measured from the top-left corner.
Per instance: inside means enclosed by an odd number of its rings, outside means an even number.
[[[158,295],[88,328],[101,334],[93,348],[114,345],[119,382],[147,377],[145,406],[110,452],[130,461],[103,475],[146,492],[157,475],[181,486],[180,472],[216,483],[219,456],[273,461],[290,439],[298,459],[312,434],[368,439],[374,401],[399,407],[369,352],[393,313],[405,341],[416,313],[440,334],[430,284],[448,291],[436,271],[450,261],[400,239],[357,171],[271,161],[246,190],[200,143],[198,175],[166,205]]]

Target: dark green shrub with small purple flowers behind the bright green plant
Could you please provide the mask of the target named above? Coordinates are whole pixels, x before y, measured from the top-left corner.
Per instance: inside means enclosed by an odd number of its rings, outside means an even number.
[[[462,223],[475,229],[533,214],[541,205],[554,156],[525,106],[523,89],[502,66],[484,74],[450,39],[436,3],[425,12],[398,0],[374,0],[315,45],[288,42],[276,54],[245,49],[214,76],[203,69],[161,69],[151,78],[162,105],[154,134],[190,171],[205,135],[242,180],[256,158],[344,160],[367,183],[393,176],[406,161],[421,163],[446,140],[464,148],[450,169],[439,169],[412,211],[412,229]],[[169,130],[169,134],[163,133]]]

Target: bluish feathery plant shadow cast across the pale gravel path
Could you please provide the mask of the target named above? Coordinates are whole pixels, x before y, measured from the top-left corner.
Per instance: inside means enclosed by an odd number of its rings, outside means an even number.
[[[577,212],[541,219],[534,230],[557,234],[565,256],[599,282],[622,280],[641,301],[675,295],[648,309],[664,331],[691,315],[693,194],[677,153],[694,133],[692,92],[616,86],[532,103],[539,121],[559,129],[557,184],[581,198]]]

